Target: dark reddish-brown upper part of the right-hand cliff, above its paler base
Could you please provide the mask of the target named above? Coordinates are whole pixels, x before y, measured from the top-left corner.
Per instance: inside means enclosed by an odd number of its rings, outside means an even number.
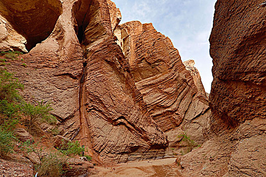
[[[210,53],[210,106],[214,117],[236,127],[266,117],[266,9],[262,1],[218,1]]]

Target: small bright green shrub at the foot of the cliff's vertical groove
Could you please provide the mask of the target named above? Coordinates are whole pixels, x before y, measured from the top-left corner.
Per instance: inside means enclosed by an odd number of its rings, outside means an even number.
[[[63,144],[62,140],[62,144]],[[80,143],[78,141],[75,142],[68,142],[67,144],[63,144],[63,146],[58,149],[59,152],[66,156],[75,156],[75,155],[81,155],[81,152],[84,151],[84,148],[81,147]]]

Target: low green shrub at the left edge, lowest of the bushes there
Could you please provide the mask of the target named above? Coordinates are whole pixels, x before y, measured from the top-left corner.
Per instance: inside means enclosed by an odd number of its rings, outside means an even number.
[[[14,149],[14,140],[16,140],[12,131],[8,131],[3,127],[0,127],[0,156],[5,156],[8,153],[12,153]]]

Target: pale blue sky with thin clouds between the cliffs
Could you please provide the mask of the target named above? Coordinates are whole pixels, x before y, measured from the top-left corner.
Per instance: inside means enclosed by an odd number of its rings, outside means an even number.
[[[212,82],[209,54],[216,0],[112,0],[120,8],[122,23],[138,20],[153,23],[157,31],[170,37],[182,61],[195,60],[207,93]]]

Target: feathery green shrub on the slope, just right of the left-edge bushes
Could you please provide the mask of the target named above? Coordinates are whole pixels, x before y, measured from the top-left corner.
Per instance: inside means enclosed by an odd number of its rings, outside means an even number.
[[[37,106],[23,103],[22,113],[26,117],[25,125],[27,130],[31,131],[34,126],[37,125],[38,121],[43,121],[47,123],[56,123],[56,118],[49,112],[53,110],[50,103],[39,102]]]

